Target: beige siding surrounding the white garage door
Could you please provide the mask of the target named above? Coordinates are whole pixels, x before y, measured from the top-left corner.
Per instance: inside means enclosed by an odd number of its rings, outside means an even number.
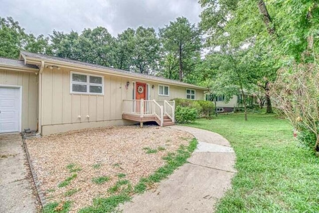
[[[31,72],[0,70],[0,85],[22,86],[21,128],[37,129],[38,75]]]

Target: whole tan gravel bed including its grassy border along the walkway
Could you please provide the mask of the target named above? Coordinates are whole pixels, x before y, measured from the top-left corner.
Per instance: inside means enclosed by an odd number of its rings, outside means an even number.
[[[26,147],[45,195],[43,212],[90,213],[113,211],[155,187],[186,162],[192,139],[175,129],[127,126],[44,136]]]

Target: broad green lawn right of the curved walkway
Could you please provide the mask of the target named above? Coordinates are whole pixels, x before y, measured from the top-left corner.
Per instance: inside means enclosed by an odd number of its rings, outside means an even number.
[[[293,128],[274,115],[219,115],[192,127],[224,136],[236,153],[238,173],[217,213],[319,212],[319,158],[293,138]]]

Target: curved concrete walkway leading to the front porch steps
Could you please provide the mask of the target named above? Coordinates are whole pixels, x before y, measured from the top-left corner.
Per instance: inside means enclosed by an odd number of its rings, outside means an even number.
[[[222,136],[197,128],[171,126],[191,133],[197,149],[155,192],[133,197],[120,207],[124,213],[212,213],[217,200],[231,187],[235,153]]]

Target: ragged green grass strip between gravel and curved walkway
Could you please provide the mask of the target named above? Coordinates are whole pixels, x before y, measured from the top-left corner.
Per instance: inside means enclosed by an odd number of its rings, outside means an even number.
[[[176,154],[168,154],[165,158],[166,165],[159,168],[153,175],[148,178],[142,178],[140,182],[132,188],[128,180],[119,180],[114,187],[111,187],[108,192],[112,195],[108,198],[96,198],[93,200],[93,205],[79,211],[79,213],[111,213],[119,206],[131,200],[131,196],[135,193],[143,193],[147,187],[160,182],[167,178],[175,169],[187,162],[187,158],[196,149],[197,141],[193,139],[189,142],[189,146],[180,146]],[[114,165],[113,165],[114,166]],[[119,176],[118,176],[119,177]],[[120,177],[119,177],[120,178]],[[126,187],[124,187],[126,186]]]

